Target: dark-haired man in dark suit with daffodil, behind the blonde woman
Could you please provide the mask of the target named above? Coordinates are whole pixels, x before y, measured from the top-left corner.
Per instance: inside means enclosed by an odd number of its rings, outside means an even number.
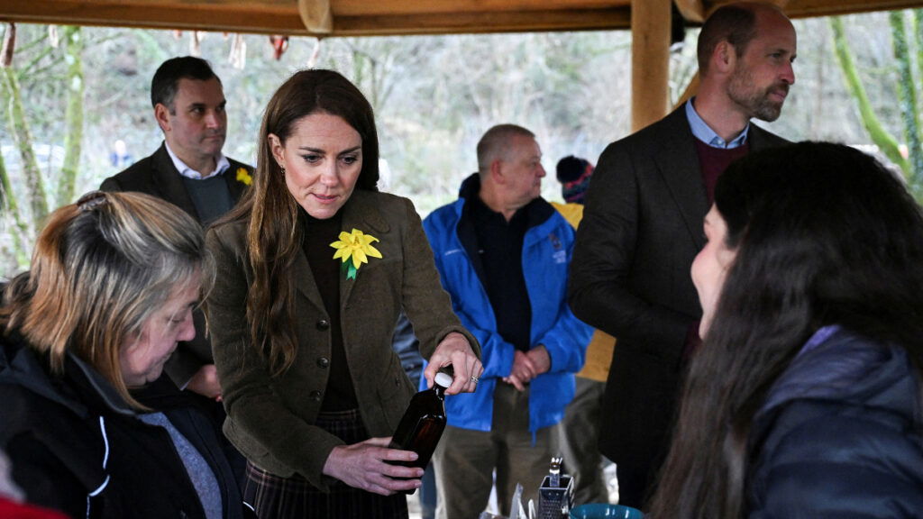
[[[222,154],[227,115],[221,79],[203,59],[174,57],[154,74],[150,102],[163,130],[161,147],[100,188],[148,193],[208,225],[234,207],[252,175],[250,166]],[[215,400],[222,390],[205,320],[201,311],[194,317],[196,338],[179,344],[165,370],[180,388]]]

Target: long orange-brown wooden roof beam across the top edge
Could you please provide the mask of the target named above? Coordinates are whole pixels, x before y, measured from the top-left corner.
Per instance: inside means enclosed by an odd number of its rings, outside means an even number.
[[[57,25],[101,25],[146,29],[224,32],[372,36],[400,34],[485,33],[548,30],[623,30],[630,27],[627,0],[510,0],[528,5],[519,11],[483,11],[509,6],[507,0],[451,0],[452,12],[426,12],[427,3],[446,8],[450,0],[323,0],[330,7],[330,32],[306,28],[299,2],[307,0],[0,0],[0,21]],[[420,12],[388,12],[358,16],[341,13],[341,6],[366,4],[368,10],[395,6]],[[727,0],[677,0],[685,6],[701,3],[703,15]],[[316,4],[316,3],[315,3]],[[310,6],[316,6],[310,4]],[[607,4],[608,7],[597,7]],[[543,6],[542,10],[534,10]],[[592,7],[580,7],[592,6]],[[791,18],[833,16],[855,12],[923,6],[923,0],[790,0]],[[323,16],[315,30],[327,30]],[[335,24],[333,19],[336,19]],[[314,19],[314,18],[311,18]]]

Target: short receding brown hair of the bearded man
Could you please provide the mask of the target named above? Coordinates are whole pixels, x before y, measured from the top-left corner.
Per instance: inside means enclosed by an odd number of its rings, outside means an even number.
[[[748,43],[756,36],[756,8],[752,4],[723,6],[705,20],[697,47],[702,73],[708,71],[708,62],[720,42],[730,43],[738,57],[744,54]]]

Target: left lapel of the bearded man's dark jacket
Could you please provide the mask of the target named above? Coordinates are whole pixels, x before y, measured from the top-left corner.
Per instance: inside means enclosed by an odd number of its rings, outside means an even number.
[[[701,181],[699,154],[686,120],[685,106],[667,115],[652,151],[654,163],[679,208],[696,247],[705,247],[701,219],[708,212],[708,198]],[[663,152],[665,151],[666,152]]]

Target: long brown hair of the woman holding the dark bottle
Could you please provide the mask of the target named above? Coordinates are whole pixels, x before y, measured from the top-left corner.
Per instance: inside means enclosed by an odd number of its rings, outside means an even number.
[[[294,335],[294,278],[291,267],[301,248],[304,229],[298,204],[282,169],[272,157],[270,134],[282,144],[295,124],[318,113],[338,115],[362,137],[362,172],[357,189],[377,190],[378,132],[366,97],[348,79],[332,70],[302,70],[273,94],[259,129],[257,172],[253,187],[218,224],[246,222],[246,247],[253,284],[246,298],[251,343],[268,356],[273,374],[292,366]]]

